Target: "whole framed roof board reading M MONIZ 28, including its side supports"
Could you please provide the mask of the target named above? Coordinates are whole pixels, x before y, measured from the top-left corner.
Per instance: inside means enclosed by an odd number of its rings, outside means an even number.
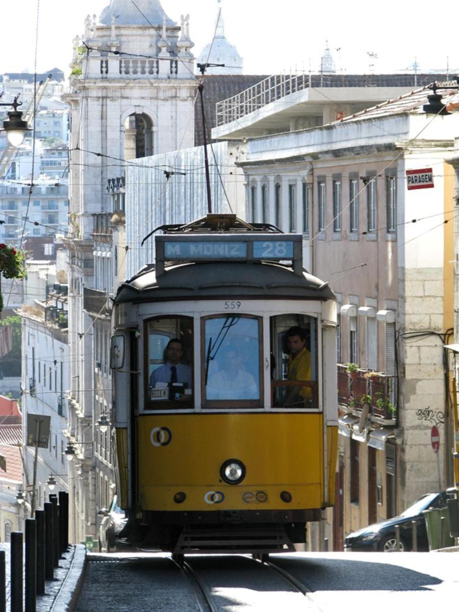
[[[166,263],[198,261],[291,261],[302,274],[302,234],[165,234],[155,241],[157,275]]]

